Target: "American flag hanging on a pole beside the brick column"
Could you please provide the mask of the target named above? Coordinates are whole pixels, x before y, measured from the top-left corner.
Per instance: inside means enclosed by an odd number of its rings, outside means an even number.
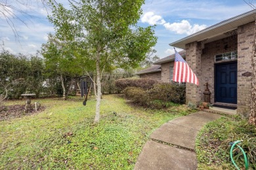
[[[175,49],[174,49],[175,50]],[[175,63],[173,68],[173,81],[175,82],[190,82],[199,85],[198,78],[193,73],[188,63],[175,50]]]

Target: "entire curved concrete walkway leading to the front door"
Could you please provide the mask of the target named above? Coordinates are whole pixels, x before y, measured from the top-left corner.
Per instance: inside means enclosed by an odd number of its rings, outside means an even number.
[[[207,122],[220,117],[200,111],[163,124],[150,135],[135,169],[196,169],[196,135]]]

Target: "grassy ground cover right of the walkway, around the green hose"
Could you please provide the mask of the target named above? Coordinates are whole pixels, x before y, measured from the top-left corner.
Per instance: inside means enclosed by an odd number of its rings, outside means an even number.
[[[230,160],[230,147],[238,140],[243,140],[240,146],[249,159],[249,169],[256,169],[256,127],[240,116],[222,117],[203,127],[196,139],[198,169],[235,169]],[[244,169],[244,156],[235,148],[234,161]]]

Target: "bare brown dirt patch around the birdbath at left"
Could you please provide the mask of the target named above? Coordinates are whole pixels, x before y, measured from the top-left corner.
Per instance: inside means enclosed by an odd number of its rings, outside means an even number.
[[[24,105],[11,105],[6,106],[5,108],[1,108],[0,110],[0,121],[1,120],[9,120],[12,118],[20,118],[22,116],[28,116],[32,114],[37,114],[43,110],[45,110],[45,107],[41,106],[39,110],[35,111],[29,110],[28,112],[25,112]]]

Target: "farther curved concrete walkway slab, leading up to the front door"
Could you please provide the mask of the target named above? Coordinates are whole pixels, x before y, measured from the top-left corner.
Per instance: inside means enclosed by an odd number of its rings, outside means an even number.
[[[194,150],[198,131],[207,122],[220,117],[219,114],[209,112],[192,113],[163,124],[150,135],[150,138]]]

